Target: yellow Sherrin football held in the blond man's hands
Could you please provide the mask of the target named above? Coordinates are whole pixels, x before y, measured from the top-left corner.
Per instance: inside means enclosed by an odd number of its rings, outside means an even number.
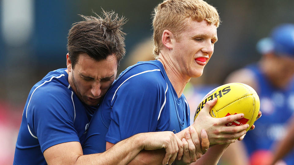
[[[254,124],[260,107],[259,97],[251,86],[243,83],[228,83],[211,90],[198,105],[194,121],[205,103],[215,97],[217,97],[217,103],[209,112],[212,117],[221,118],[243,113],[242,119],[227,123],[226,126],[249,124],[246,130],[248,131]]]

